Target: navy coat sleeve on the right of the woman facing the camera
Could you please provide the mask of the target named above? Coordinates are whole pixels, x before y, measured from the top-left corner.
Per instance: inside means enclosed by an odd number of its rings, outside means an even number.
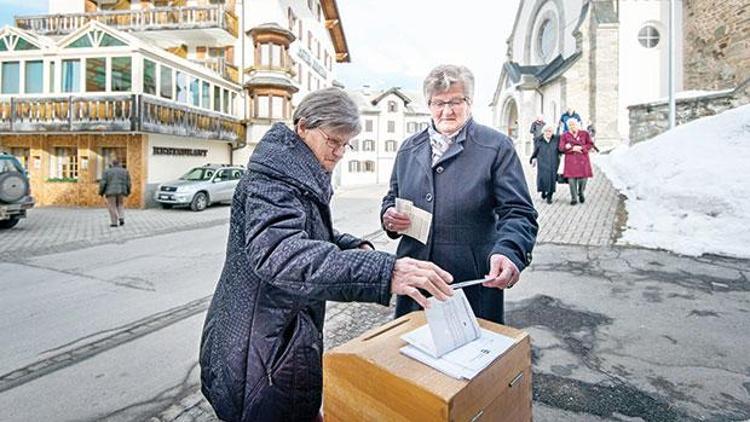
[[[531,202],[529,189],[515,150],[500,149],[492,167],[495,196],[494,212],[498,219],[495,229],[498,241],[491,255],[505,255],[523,271],[531,264],[531,251],[534,249],[539,230],[537,212]]]

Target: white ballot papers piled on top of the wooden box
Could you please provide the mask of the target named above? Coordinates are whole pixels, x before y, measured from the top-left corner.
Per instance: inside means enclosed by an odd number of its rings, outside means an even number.
[[[514,340],[479,327],[463,290],[445,302],[430,298],[427,324],[401,339],[401,353],[453,378],[472,379],[510,348]]]

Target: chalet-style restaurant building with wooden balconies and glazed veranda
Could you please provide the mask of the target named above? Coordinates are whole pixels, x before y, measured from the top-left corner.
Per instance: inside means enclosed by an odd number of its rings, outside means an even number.
[[[50,2],[0,31],[0,148],[41,206],[102,206],[117,158],[144,207],[193,166],[245,164],[348,60],[335,1]]]

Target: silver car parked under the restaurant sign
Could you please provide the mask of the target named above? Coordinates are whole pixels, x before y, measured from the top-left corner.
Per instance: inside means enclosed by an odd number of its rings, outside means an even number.
[[[206,164],[190,169],[177,180],[162,183],[154,199],[164,208],[190,206],[193,211],[203,211],[217,202],[232,202],[245,169],[227,164]]]

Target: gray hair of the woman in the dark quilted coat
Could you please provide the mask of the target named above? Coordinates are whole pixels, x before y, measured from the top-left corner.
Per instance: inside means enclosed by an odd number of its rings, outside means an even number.
[[[304,122],[306,129],[325,127],[337,133],[357,135],[362,130],[359,109],[339,88],[324,88],[302,99],[292,116],[294,126]]]

